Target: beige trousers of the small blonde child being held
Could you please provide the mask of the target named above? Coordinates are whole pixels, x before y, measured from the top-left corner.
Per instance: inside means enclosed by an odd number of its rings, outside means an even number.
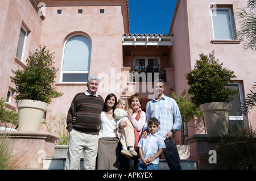
[[[134,148],[135,136],[133,124],[131,124],[131,121],[129,120],[124,121],[127,125],[125,128],[121,129],[122,137],[120,142],[122,146],[126,146],[127,148],[132,146]]]

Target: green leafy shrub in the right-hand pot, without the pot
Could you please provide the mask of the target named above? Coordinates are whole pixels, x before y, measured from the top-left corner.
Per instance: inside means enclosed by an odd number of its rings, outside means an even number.
[[[209,57],[201,53],[195,68],[185,74],[188,94],[193,95],[191,101],[196,107],[210,102],[230,102],[231,95],[236,94],[237,91],[227,86],[236,75],[234,71],[222,68],[222,65],[215,60],[214,51],[209,53]]]

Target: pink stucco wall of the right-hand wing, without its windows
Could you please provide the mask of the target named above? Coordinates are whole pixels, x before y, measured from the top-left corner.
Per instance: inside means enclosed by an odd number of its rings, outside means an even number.
[[[175,84],[177,90],[187,90],[187,80],[184,74],[193,69],[199,54],[209,54],[215,51],[215,57],[224,63],[224,67],[233,70],[237,75],[234,81],[242,83],[243,96],[249,92],[255,79],[255,52],[244,50],[243,42],[239,44],[220,43],[213,44],[212,18],[209,15],[210,3],[205,0],[177,1],[177,9],[172,20],[170,34],[174,34],[174,46],[171,48],[171,61],[174,62]],[[238,9],[246,6],[247,1],[214,1],[220,6],[233,6],[236,14]],[[240,20],[234,18],[235,27],[240,28]],[[249,114],[249,122],[255,127],[255,108]],[[253,120],[254,119],[254,120]]]

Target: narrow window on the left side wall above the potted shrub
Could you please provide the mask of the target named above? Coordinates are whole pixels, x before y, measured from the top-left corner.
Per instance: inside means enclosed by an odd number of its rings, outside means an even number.
[[[17,51],[16,51],[16,57],[19,58],[20,61],[23,60],[26,39],[27,39],[27,31],[22,26],[20,28],[18,47],[17,47]]]

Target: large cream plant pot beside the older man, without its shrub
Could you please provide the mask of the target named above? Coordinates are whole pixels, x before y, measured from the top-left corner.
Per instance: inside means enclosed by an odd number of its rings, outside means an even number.
[[[39,131],[47,103],[38,100],[18,100],[18,131]]]

